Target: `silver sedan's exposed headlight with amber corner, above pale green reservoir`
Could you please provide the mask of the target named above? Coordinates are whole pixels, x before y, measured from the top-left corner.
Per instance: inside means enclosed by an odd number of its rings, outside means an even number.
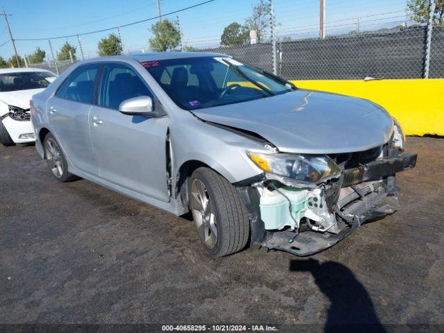
[[[248,152],[248,157],[266,172],[276,173],[301,182],[316,183],[327,178],[341,176],[341,169],[327,156]]]

